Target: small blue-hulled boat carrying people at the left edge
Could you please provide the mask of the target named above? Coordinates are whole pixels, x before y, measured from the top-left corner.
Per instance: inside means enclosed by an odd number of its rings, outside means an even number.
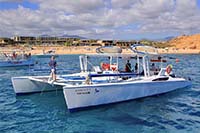
[[[0,67],[32,66],[34,60],[25,51],[0,51]]]

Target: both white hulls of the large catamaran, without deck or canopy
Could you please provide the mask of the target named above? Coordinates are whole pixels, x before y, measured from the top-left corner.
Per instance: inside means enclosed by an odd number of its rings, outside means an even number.
[[[44,77],[43,77],[44,78]],[[13,77],[12,84],[17,95],[44,91],[62,90],[61,85],[36,80],[40,78]],[[48,79],[48,77],[46,77]],[[190,86],[191,82],[184,79],[172,81],[130,81],[107,84],[81,86],[65,86],[65,101],[70,111],[80,108],[122,102],[170,92]]]

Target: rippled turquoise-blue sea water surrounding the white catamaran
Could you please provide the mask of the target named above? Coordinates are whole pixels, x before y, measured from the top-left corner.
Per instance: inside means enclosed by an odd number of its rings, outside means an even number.
[[[75,113],[62,91],[15,96],[10,78],[35,74],[33,68],[0,68],[0,132],[199,132],[200,55],[170,56],[180,59],[173,69],[192,79],[191,88]],[[38,75],[48,74],[49,59],[36,60]],[[57,60],[58,72],[79,72],[78,55]]]

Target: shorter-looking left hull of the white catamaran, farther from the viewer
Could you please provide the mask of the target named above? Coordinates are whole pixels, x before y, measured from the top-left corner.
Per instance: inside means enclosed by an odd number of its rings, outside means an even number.
[[[46,77],[46,79],[48,79],[48,77]],[[13,77],[12,84],[17,95],[62,89],[62,86],[51,85],[47,81],[35,80],[34,78],[26,76]]]

